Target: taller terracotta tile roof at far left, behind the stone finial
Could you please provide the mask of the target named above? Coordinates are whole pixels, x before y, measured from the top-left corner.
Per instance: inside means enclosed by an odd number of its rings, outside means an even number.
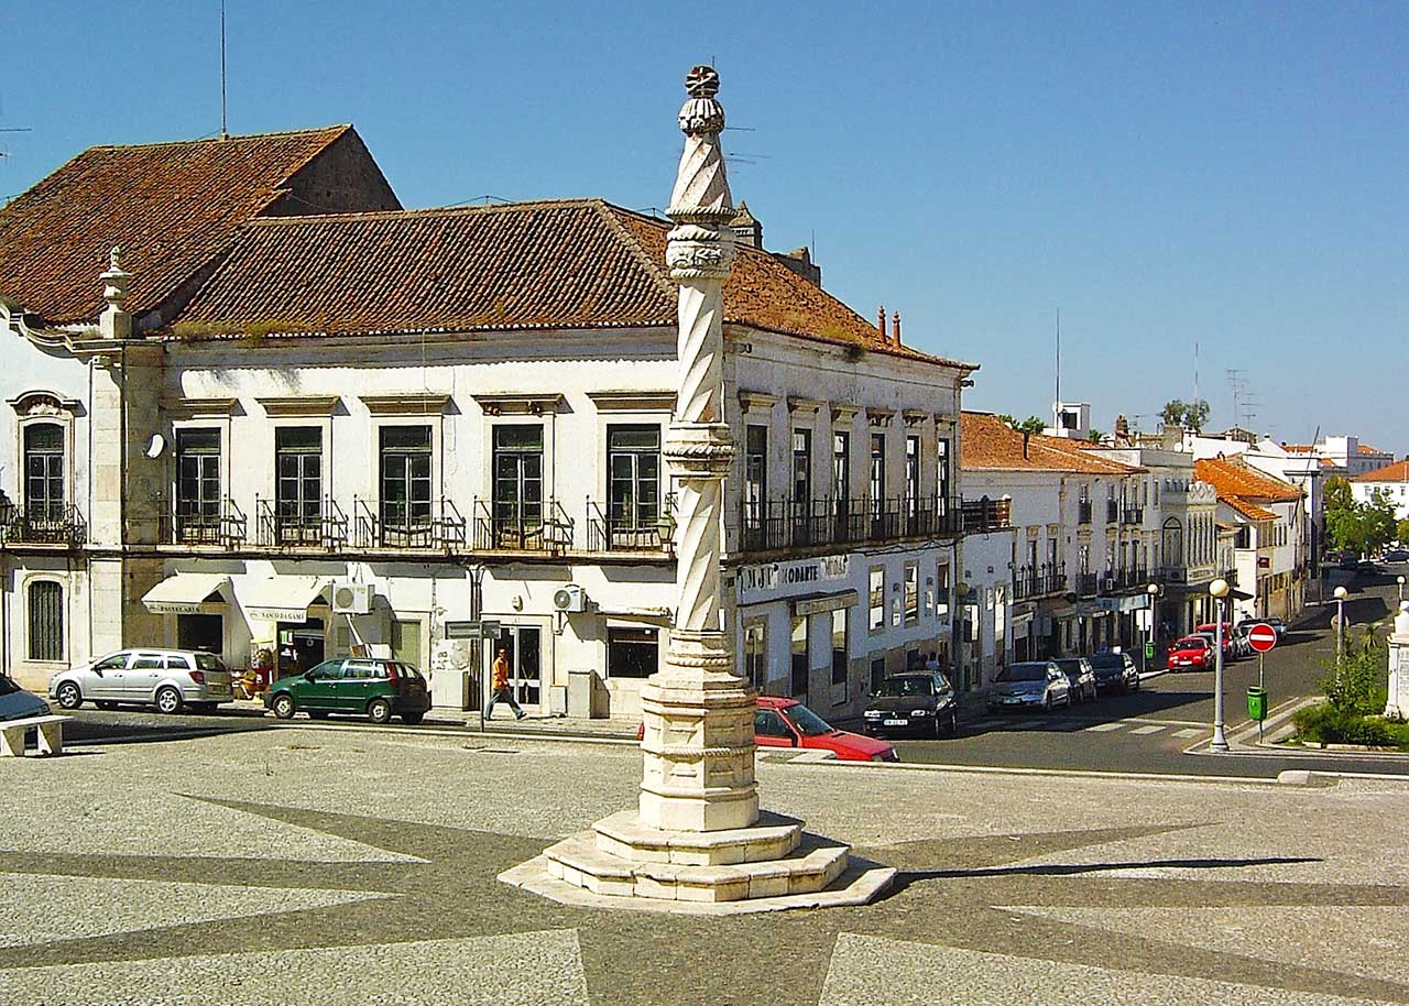
[[[97,276],[123,245],[128,309],[151,310],[351,130],[93,147],[0,210],[0,293],[55,324],[93,320]]]

